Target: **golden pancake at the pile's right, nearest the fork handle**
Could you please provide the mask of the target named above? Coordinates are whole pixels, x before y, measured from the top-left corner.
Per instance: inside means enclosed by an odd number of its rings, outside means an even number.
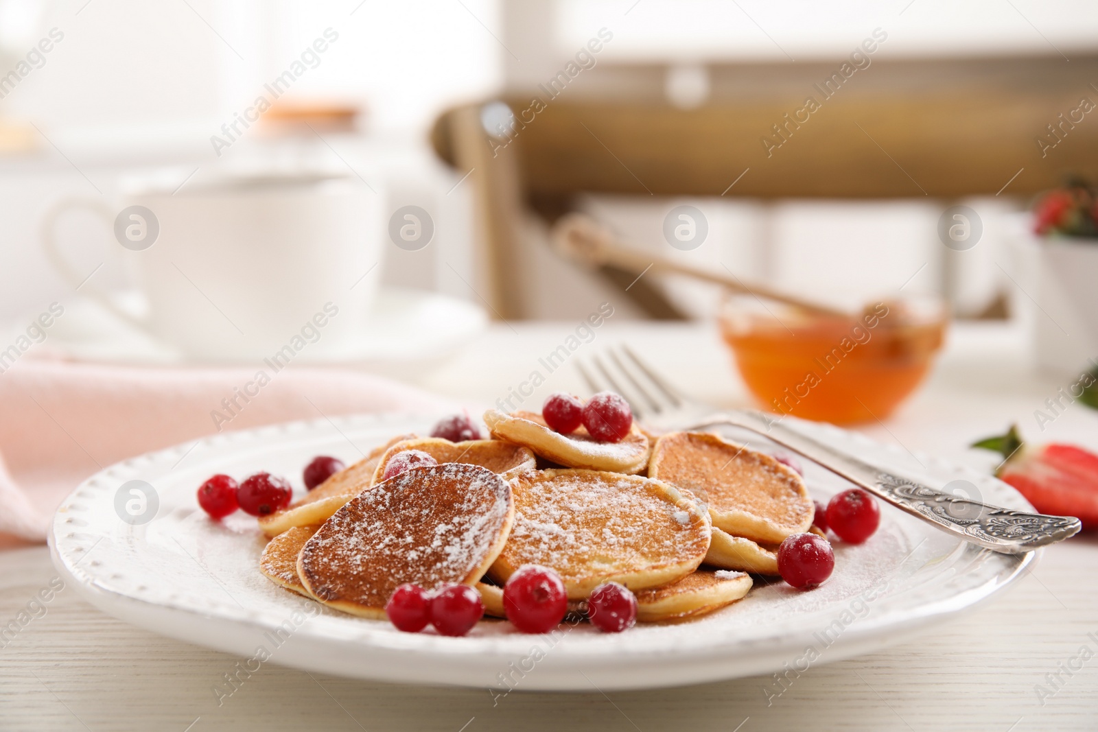
[[[733,537],[776,544],[813,521],[813,502],[796,472],[716,435],[664,435],[648,474],[704,496],[713,525]]]

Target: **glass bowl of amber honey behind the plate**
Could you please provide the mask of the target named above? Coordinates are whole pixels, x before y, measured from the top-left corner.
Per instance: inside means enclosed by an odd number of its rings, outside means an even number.
[[[882,299],[856,313],[732,295],[720,315],[721,336],[763,408],[837,425],[890,415],[930,372],[946,324],[931,295]]]

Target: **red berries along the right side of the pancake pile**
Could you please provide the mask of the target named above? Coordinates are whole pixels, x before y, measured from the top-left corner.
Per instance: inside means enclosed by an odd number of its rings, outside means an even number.
[[[802,476],[800,464],[789,455],[776,454],[774,459]],[[815,505],[813,526],[820,532],[831,531],[850,544],[860,544],[877,530],[881,508],[873,496],[862,488],[850,488],[831,497],[827,507],[818,500]],[[834,570],[831,542],[816,533],[794,533],[786,537],[777,549],[777,571],[782,579],[797,589],[813,589],[822,585]]]

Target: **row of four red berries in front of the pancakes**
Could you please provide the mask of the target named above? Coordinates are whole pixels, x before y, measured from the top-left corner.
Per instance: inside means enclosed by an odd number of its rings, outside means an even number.
[[[549,567],[527,564],[503,586],[507,620],[524,633],[546,633],[568,612],[568,593],[560,575]],[[464,635],[484,615],[480,593],[468,585],[447,584],[426,592],[405,584],[393,590],[385,615],[399,629],[418,633],[428,624],[442,635]],[[587,600],[587,618],[600,630],[619,633],[637,622],[637,598],[616,582],[600,585]]]

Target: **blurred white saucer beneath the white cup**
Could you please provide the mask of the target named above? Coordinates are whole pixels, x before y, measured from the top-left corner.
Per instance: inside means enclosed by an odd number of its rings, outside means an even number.
[[[357,342],[348,345],[338,357],[311,356],[306,349],[301,354],[301,362],[381,371],[406,364],[422,367],[459,348],[486,327],[484,311],[467,301],[421,290],[382,288],[374,300],[369,325],[357,334]],[[65,316],[51,327],[47,342],[60,356],[78,361],[132,365],[205,364],[86,300],[65,306]],[[226,364],[219,361],[216,365]]]

